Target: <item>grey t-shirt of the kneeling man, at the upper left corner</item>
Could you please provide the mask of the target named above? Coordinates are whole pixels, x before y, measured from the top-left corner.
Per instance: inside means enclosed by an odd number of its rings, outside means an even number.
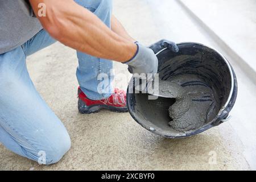
[[[0,54],[27,42],[41,29],[26,0],[0,0]]]

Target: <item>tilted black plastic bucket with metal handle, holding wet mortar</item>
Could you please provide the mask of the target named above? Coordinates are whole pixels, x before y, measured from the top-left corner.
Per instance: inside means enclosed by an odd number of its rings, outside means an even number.
[[[220,125],[228,120],[237,97],[236,75],[220,52],[200,43],[179,43],[177,46],[180,49],[177,53],[162,48],[158,43],[151,46],[159,60],[159,79],[171,81],[175,75],[182,73],[200,76],[215,90],[219,104],[216,117],[205,121],[196,130],[180,132],[168,126],[168,107],[175,103],[175,99],[159,97],[148,100],[147,94],[129,93],[127,89],[127,107],[131,116],[145,129],[166,138],[190,137]],[[185,58],[176,59],[177,56]]]

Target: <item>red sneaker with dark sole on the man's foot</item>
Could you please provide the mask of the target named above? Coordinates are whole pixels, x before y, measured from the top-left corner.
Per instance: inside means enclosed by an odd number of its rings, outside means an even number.
[[[85,93],[79,87],[78,98],[78,109],[81,114],[98,113],[102,108],[119,113],[128,111],[126,106],[126,92],[117,88],[114,89],[114,93],[109,98],[94,101],[86,97]]]

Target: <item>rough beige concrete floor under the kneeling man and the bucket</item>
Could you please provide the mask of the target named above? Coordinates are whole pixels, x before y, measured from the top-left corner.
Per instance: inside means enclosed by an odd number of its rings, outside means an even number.
[[[114,0],[114,14],[127,31],[143,44],[166,38],[175,42],[201,42],[218,48],[179,3],[161,2]],[[232,111],[233,118],[195,137],[165,139],[143,129],[129,113],[102,110],[98,114],[79,114],[76,53],[56,43],[28,57],[28,71],[42,97],[67,127],[72,148],[59,163],[40,166],[0,146],[0,169],[253,169],[255,84],[235,62],[230,62],[241,88]],[[125,65],[115,63],[115,71],[116,74],[130,76]],[[125,84],[120,84],[119,80],[117,85],[125,88],[127,81],[122,80]],[[246,97],[251,98],[248,101]]]

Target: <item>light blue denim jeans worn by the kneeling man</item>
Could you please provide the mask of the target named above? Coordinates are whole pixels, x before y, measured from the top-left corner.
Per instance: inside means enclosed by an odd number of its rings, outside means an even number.
[[[110,27],[111,0],[76,0]],[[71,147],[63,123],[36,91],[28,74],[26,57],[55,40],[44,30],[22,46],[0,55],[0,142],[9,150],[42,164],[58,162]],[[100,46],[100,45],[99,45]],[[100,73],[109,75],[112,61],[77,52],[77,80],[82,91],[93,100],[107,98],[112,86],[97,92]]]

